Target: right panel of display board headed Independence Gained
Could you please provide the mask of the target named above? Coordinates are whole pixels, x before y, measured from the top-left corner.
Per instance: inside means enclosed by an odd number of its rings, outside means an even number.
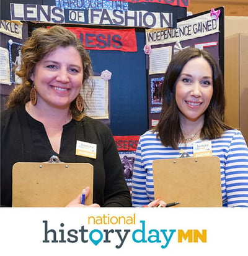
[[[179,19],[176,29],[146,30],[149,128],[159,119],[167,66],[174,54],[186,47],[212,53],[224,72],[224,7]]]

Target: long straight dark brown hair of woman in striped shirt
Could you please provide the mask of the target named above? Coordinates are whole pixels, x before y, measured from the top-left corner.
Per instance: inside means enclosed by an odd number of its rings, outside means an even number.
[[[163,145],[177,149],[178,144],[184,141],[180,128],[179,109],[175,101],[175,83],[185,64],[192,58],[203,57],[210,64],[213,74],[213,96],[205,111],[201,139],[216,139],[225,129],[232,129],[224,123],[224,82],[218,62],[211,53],[197,48],[185,48],[172,58],[164,75],[162,83],[162,110],[159,122],[153,131],[161,139]]]

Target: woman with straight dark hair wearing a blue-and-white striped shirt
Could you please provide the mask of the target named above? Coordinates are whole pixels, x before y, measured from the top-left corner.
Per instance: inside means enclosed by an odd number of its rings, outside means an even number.
[[[164,75],[162,98],[157,126],[141,135],[136,149],[133,206],[166,201],[154,200],[154,160],[178,158],[182,152],[193,157],[194,145],[207,144],[220,160],[223,206],[247,207],[248,149],[241,131],[224,122],[223,76],[215,58],[197,48],[177,53]]]

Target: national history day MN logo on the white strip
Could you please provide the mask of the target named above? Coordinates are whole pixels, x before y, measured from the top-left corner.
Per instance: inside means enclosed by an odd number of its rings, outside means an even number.
[[[128,245],[153,244],[166,249],[171,244],[207,242],[206,229],[166,228],[166,221],[161,222],[159,229],[151,228],[149,219],[139,220],[136,213],[129,216],[87,216],[86,223],[82,222],[78,227],[68,226],[65,222],[60,223],[59,229],[55,229],[54,226],[54,222],[43,220],[44,244],[112,244],[116,249],[120,249],[128,241]],[[120,228],[123,226],[125,227]]]

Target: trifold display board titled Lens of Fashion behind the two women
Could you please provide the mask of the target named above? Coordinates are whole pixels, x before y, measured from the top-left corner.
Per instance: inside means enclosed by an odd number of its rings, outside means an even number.
[[[107,74],[108,99],[99,99],[108,105],[104,121],[113,135],[141,135],[157,124],[161,84],[175,52],[205,48],[223,68],[224,7],[187,17],[188,4],[187,0],[36,0],[32,4],[9,0],[1,2],[1,19],[28,24],[29,32],[55,24],[78,29],[95,76]],[[12,48],[17,45],[11,37],[15,26],[1,21],[1,32],[10,32]],[[1,45],[6,48],[7,43],[1,39]],[[102,94],[99,90],[98,96]]]

